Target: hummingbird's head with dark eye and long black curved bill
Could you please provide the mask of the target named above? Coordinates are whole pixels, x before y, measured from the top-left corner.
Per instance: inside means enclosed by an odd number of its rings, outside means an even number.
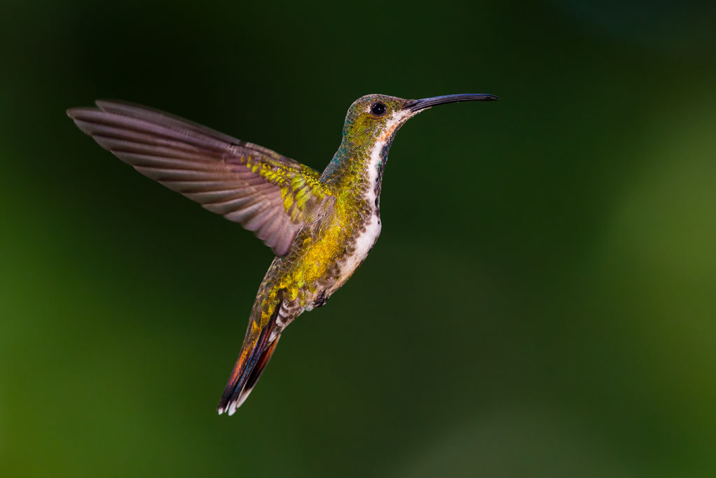
[[[404,100],[387,95],[365,95],[355,100],[348,108],[343,127],[343,138],[350,145],[359,148],[370,149],[379,142],[390,144],[397,130],[407,120],[429,107],[458,101],[497,99],[498,97],[494,95],[483,94],[445,95],[422,100]]]

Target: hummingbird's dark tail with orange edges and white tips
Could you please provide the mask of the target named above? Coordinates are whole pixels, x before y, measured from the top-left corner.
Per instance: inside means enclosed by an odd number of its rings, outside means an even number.
[[[251,393],[263,368],[271,360],[271,355],[276,350],[276,344],[279,343],[281,330],[286,325],[285,317],[279,315],[281,305],[283,305],[281,295],[279,292],[278,303],[274,305],[274,312],[266,325],[260,327],[253,314],[248,320],[248,330],[246,330],[246,337],[243,339],[241,353],[238,355],[236,365],[233,366],[233,371],[218,406],[220,415],[225,411],[228,411],[229,415],[233,415],[236,408],[240,407]],[[260,313],[258,310],[258,314]]]

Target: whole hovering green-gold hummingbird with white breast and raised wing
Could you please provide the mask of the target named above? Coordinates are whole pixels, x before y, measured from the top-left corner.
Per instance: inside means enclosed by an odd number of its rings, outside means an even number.
[[[253,231],[276,254],[218,406],[233,415],[281,333],[321,307],[378,239],[383,171],[395,133],[430,107],[492,101],[487,94],[405,100],[366,95],[349,107],[341,144],[323,173],[259,145],[159,110],[114,100],[67,110],[102,148],[144,176]]]

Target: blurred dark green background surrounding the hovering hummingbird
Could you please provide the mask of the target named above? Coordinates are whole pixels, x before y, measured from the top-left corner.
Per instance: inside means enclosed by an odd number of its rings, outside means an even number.
[[[14,2],[0,475],[716,476],[708,2]],[[321,169],[369,92],[382,236],[215,407],[271,252],[64,115],[140,102]]]

